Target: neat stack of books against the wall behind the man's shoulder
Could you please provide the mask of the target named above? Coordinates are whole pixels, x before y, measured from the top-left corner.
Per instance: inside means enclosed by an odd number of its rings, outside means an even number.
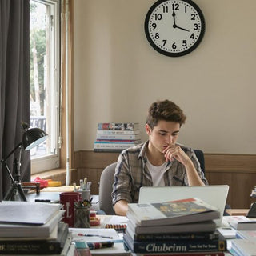
[[[120,152],[141,143],[138,122],[98,123],[94,151]]]

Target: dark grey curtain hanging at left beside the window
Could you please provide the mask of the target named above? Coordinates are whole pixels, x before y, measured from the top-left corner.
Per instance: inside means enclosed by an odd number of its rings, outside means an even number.
[[[21,122],[30,123],[30,1],[0,1],[0,158],[22,141]],[[14,159],[7,165],[14,175]],[[30,151],[22,150],[21,180],[30,181]],[[11,185],[6,168],[0,167],[0,201]]]

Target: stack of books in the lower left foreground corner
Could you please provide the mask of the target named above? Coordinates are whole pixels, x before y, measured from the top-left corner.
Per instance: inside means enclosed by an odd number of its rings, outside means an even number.
[[[61,221],[61,208],[46,202],[0,202],[0,254],[66,256],[72,236]]]

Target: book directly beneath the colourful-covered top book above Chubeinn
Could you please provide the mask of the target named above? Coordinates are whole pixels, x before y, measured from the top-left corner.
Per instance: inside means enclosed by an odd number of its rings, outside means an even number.
[[[216,230],[216,223],[208,221],[166,226],[134,226],[132,222],[128,221],[126,230],[130,234],[184,233],[188,230],[190,232],[214,232]]]

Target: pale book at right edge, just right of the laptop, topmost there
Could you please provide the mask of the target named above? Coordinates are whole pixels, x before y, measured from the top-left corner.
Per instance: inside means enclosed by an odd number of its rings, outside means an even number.
[[[235,230],[256,230],[256,221],[246,216],[227,216],[227,222]]]

